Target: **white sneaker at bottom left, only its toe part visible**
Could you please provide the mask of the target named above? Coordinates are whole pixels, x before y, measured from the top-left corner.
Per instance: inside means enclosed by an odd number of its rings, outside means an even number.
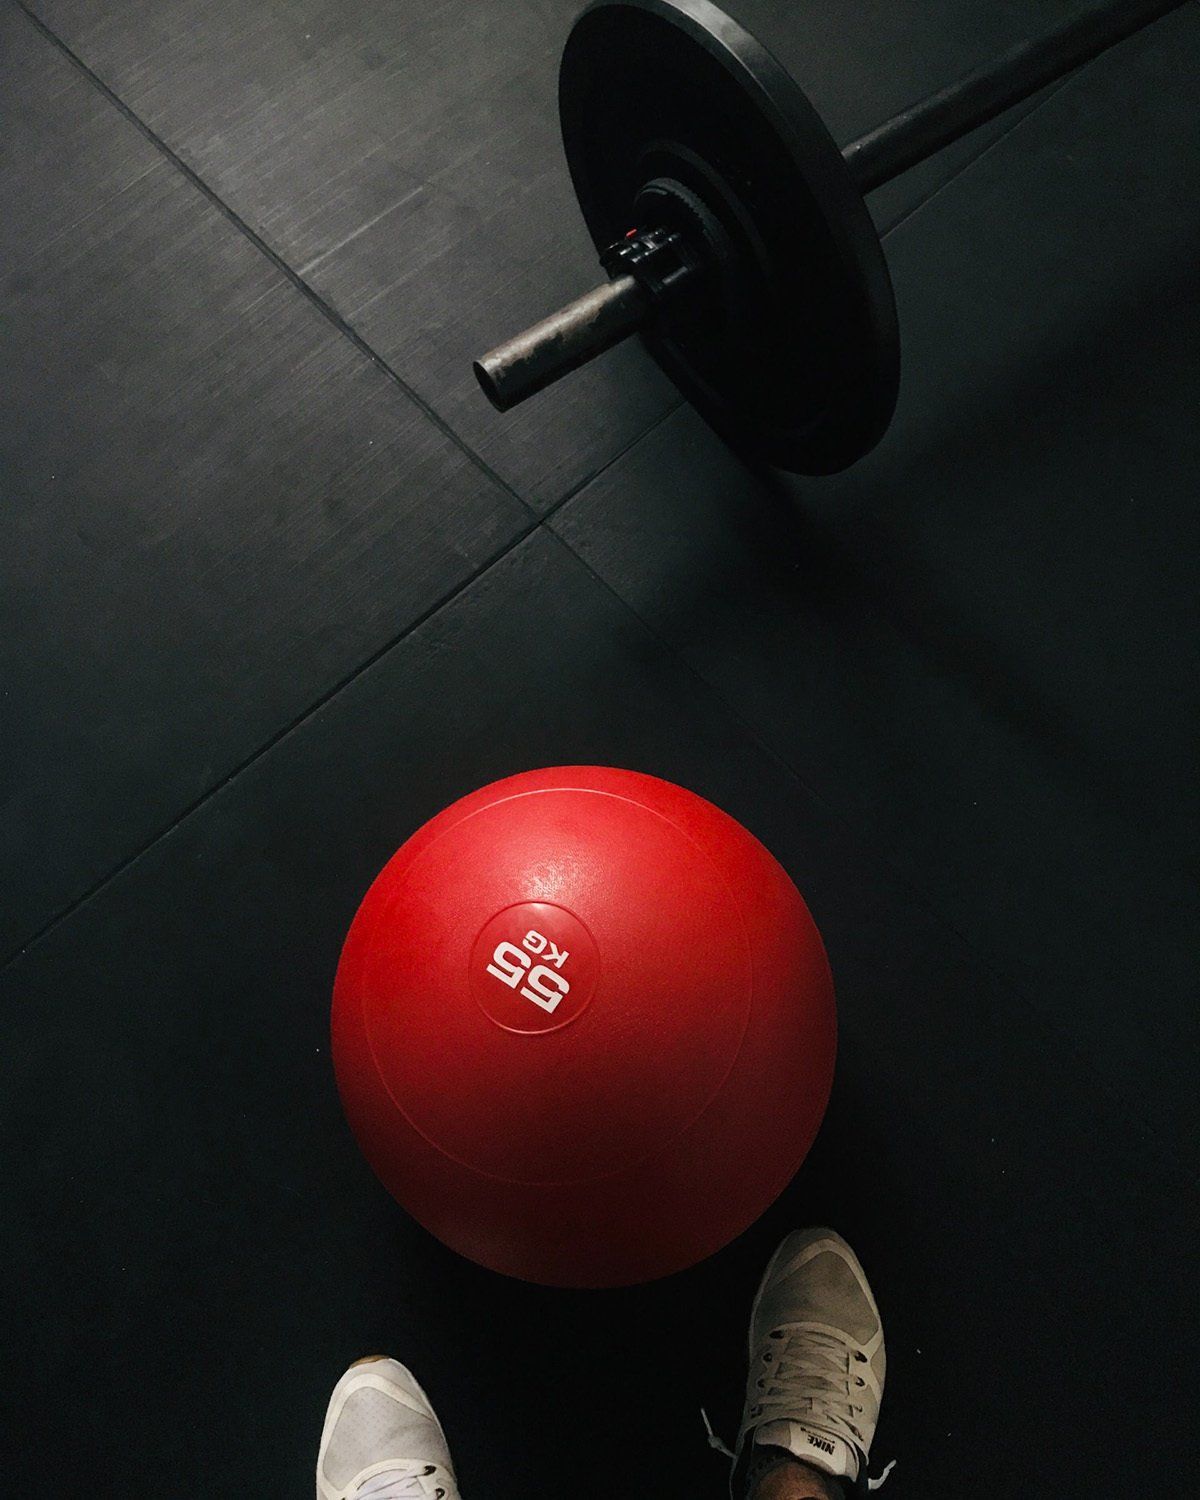
[[[459,1500],[441,1422],[394,1359],[360,1359],[333,1388],[316,1500]]]

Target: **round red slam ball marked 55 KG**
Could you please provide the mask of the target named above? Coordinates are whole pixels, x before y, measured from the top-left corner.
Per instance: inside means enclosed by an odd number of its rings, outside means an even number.
[[[834,1071],[832,981],[783,867],[669,782],[508,777],[386,866],[333,1060],[384,1186],[462,1256],[558,1287],[681,1270],[783,1191]]]

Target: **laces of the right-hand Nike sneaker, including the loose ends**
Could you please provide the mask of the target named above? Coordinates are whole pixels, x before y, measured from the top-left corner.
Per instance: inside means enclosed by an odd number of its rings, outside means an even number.
[[[750,1402],[752,1425],[801,1422],[804,1426],[842,1438],[862,1454],[862,1432],[855,1424],[855,1416],[862,1407],[854,1401],[852,1392],[855,1380],[861,1384],[866,1384],[866,1380],[852,1374],[855,1354],[846,1347],[844,1338],[814,1323],[786,1324],[776,1329],[771,1338],[780,1341],[780,1347],[770,1360],[770,1368],[756,1377],[758,1400]],[[712,1431],[704,1407],[700,1416],[708,1432],[708,1446],[735,1460],[729,1444]],[[866,1466],[866,1454],[862,1462]],[[867,1488],[878,1490],[894,1466],[896,1460],[878,1479],[868,1479]]]

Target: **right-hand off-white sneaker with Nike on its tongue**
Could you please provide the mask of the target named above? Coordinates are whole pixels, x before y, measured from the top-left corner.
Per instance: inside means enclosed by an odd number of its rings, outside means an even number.
[[[738,1492],[764,1443],[850,1485],[866,1479],[885,1366],[879,1308],[850,1246],[830,1228],[789,1234],[750,1312]]]

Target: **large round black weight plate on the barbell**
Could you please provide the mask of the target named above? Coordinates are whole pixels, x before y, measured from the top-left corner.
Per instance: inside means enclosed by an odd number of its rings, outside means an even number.
[[[842,153],[780,63],[708,0],[596,0],[567,39],[558,99],[597,249],[663,177],[741,246],[736,312],[681,312],[645,334],[705,420],[798,474],[874,447],[900,375],[891,279]]]

